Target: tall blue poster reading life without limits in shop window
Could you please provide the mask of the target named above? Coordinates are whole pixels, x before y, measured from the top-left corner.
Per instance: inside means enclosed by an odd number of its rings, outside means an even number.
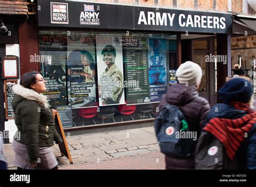
[[[166,51],[166,40],[149,38],[150,102],[160,102],[167,90]]]

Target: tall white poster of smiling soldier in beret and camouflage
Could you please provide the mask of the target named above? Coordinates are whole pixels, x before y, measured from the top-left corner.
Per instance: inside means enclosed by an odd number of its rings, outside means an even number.
[[[96,35],[99,106],[124,104],[122,37]]]

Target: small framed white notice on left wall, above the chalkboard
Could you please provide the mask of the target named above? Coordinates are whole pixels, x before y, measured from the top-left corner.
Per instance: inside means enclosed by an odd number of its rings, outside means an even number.
[[[19,58],[14,55],[4,56],[2,63],[3,79],[19,79]]]

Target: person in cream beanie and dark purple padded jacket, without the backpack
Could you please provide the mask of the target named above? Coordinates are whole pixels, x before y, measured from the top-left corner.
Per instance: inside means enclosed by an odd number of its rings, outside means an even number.
[[[187,61],[179,66],[176,75],[179,83],[172,84],[167,90],[159,103],[159,112],[166,104],[178,106],[186,118],[190,132],[196,132],[199,135],[210,110],[208,100],[200,97],[197,91],[201,82],[202,69],[198,64]],[[195,146],[192,148],[196,150]],[[165,163],[166,169],[194,169],[194,156],[192,154],[189,158],[183,158],[165,155]]]

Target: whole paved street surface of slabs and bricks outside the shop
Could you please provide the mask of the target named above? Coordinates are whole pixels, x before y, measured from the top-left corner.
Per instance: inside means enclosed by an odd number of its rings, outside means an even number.
[[[165,169],[153,127],[134,128],[66,137],[73,164],[53,146],[59,169]],[[13,163],[11,143],[5,144],[9,169]]]

